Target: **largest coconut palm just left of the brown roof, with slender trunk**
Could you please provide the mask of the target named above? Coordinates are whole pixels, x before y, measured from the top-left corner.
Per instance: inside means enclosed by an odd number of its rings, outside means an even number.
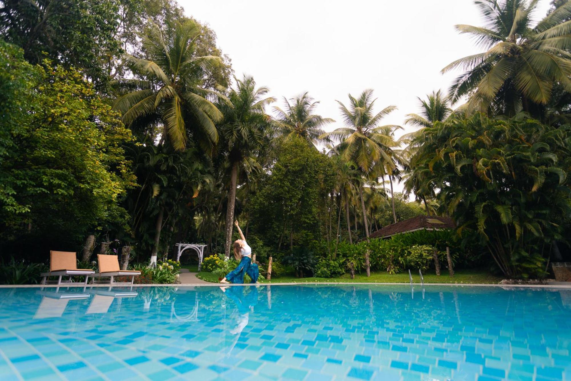
[[[349,102],[349,108],[347,108],[342,102],[337,101],[345,127],[337,128],[322,136],[339,140],[339,144],[333,149],[344,160],[355,162],[366,176],[376,165],[384,165],[385,162],[392,163],[392,150],[396,145],[394,138],[387,135],[387,132],[399,126],[379,126],[379,122],[395,110],[396,106],[388,106],[379,113],[373,113],[375,99],[373,99],[373,90],[371,89],[365,90],[359,98],[349,94]],[[359,186],[359,196],[365,233],[368,239],[369,226],[362,183]]]

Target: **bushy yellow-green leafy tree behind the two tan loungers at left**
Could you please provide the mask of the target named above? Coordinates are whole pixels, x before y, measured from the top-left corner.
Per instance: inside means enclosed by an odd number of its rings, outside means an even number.
[[[132,136],[119,115],[77,71],[31,66],[4,42],[0,61],[2,240],[62,247],[126,224],[118,201],[134,185],[122,148]]]

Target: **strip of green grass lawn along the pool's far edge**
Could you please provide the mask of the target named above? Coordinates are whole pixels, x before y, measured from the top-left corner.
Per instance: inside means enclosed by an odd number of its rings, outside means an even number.
[[[196,275],[199,279],[206,280],[209,282],[218,282],[218,276],[212,274],[211,272],[201,271]],[[495,275],[490,275],[490,273],[483,270],[459,270],[456,274],[451,277],[448,272],[443,272],[441,276],[436,276],[433,272],[428,272],[423,274],[424,283],[499,283],[502,278]],[[416,272],[412,274],[412,281],[414,283],[420,283],[419,273]],[[398,273],[391,275],[387,272],[373,272],[370,277],[367,277],[365,273],[355,274],[355,279],[351,279],[351,276],[347,273],[337,278],[296,278],[292,275],[283,275],[272,277],[271,281],[266,279],[260,279],[260,283],[307,283],[307,282],[373,282],[373,283],[408,283],[408,272]]]

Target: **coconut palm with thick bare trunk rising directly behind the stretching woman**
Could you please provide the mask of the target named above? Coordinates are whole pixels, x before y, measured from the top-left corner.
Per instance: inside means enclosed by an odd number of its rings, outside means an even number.
[[[275,102],[266,97],[270,91],[265,86],[256,88],[251,76],[242,80],[235,78],[236,88],[228,94],[229,102],[221,102],[224,121],[220,126],[223,149],[230,168],[228,207],[226,212],[226,256],[230,256],[236,186],[240,173],[259,171],[269,157],[272,131],[272,117],[266,113],[266,106]]]

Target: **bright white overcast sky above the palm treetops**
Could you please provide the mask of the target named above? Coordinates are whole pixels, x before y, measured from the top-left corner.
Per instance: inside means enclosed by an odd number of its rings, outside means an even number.
[[[460,74],[442,75],[444,66],[480,52],[454,29],[483,26],[472,0],[178,1],[214,29],[236,77],[254,76],[280,107],[282,96],[308,91],[320,101],[317,113],[337,121],[328,130],[343,125],[335,100],[347,105],[348,93],[368,88],[377,111],[399,108],[384,124],[402,125],[405,114],[419,112],[417,97],[447,90]],[[539,2],[536,19],[549,3]]]

